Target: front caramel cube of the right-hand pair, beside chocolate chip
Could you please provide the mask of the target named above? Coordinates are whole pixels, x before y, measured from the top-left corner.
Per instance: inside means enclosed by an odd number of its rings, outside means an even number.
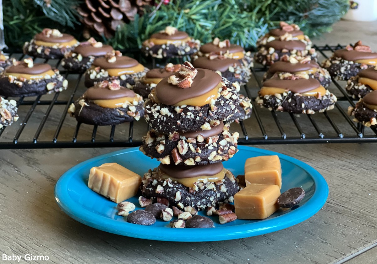
[[[234,208],[238,219],[264,219],[279,205],[280,189],[275,184],[249,184],[234,194]]]

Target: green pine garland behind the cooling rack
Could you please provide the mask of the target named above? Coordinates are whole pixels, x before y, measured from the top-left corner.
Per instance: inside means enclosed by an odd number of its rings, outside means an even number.
[[[79,0],[3,0],[6,43],[21,47],[44,27],[82,39],[83,26],[75,11],[79,4]],[[202,42],[217,36],[251,49],[279,21],[299,24],[309,36],[319,36],[330,31],[348,7],[348,0],[172,0],[158,10],[147,6],[112,39],[101,40],[116,49],[134,50],[152,33],[175,26]]]

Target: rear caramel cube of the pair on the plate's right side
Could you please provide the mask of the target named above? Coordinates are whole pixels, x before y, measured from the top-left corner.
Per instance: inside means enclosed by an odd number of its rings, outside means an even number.
[[[249,184],[276,184],[282,188],[282,167],[279,157],[259,156],[245,162],[245,182]]]

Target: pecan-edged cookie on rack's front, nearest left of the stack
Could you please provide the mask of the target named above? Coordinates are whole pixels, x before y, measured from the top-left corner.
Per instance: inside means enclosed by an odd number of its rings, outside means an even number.
[[[139,120],[143,103],[141,96],[122,87],[119,80],[103,81],[72,103],[68,113],[80,123],[115,125]]]

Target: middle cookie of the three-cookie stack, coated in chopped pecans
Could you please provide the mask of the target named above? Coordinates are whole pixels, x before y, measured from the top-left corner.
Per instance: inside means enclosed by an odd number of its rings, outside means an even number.
[[[210,130],[164,135],[150,130],[140,150],[162,164],[204,165],[226,161],[237,152],[238,132],[220,123]]]

